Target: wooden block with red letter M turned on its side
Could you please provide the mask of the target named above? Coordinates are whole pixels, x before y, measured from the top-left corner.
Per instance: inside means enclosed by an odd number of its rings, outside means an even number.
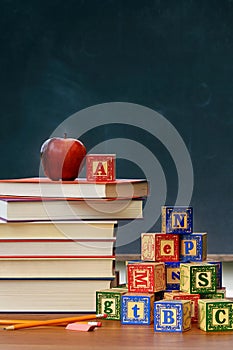
[[[127,265],[128,291],[154,293],[165,290],[164,262],[138,262]]]

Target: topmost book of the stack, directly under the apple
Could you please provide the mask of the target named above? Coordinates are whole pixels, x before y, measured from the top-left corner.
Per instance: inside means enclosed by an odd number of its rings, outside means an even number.
[[[0,195],[52,198],[138,198],[148,195],[145,179],[117,179],[90,182],[84,178],[74,181],[52,181],[47,177],[0,180]]]

